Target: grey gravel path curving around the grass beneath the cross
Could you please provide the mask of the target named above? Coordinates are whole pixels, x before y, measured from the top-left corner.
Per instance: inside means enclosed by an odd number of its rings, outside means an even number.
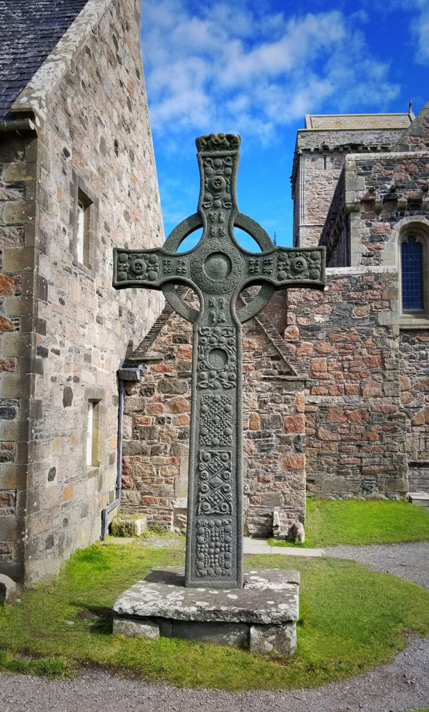
[[[429,544],[326,549],[429,589]],[[405,712],[429,706],[429,637],[389,664],[314,690],[226,693],[144,684],[87,671],[72,680],[0,676],[1,712]]]

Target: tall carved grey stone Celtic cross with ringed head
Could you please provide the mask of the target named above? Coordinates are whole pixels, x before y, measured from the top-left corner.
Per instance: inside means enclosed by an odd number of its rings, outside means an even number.
[[[324,248],[275,247],[258,223],[238,212],[239,146],[236,135],[197,138],[198,212],[176,226],[163,248],[114,251],[115,288],[161,289],[174,310],[194,323],[189,587],[243,587],[241,324],[262,310],[276,289],[324,287]],[[201,226],[196,247],[176,253]],[[234,226],[252,236],[262,251],[243,249]],[[184,303],[174,283],[196,292],[199,311]],[[261,286],[258,295],[236,310],[240,292],[253,284]]]

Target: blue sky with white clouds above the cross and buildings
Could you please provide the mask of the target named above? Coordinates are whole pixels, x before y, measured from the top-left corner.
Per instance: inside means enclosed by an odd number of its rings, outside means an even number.
[[[417,114],[429,0],[143,0],[142,53],[166,236],[196,211],[195,138],[225,132],[242,137],[240,211],[291,245],[304,114],[406,112],[409,100]]]

